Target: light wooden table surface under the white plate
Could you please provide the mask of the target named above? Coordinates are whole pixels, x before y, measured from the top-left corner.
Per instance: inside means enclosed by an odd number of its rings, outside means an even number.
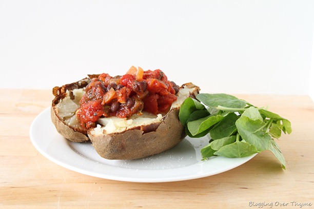
[[[292,133],[277,141],[286,170],[264,151],[214,176],[134,183],[76,173],[45,158],[33,147],[29,128],[36,115],[50,106],[51,91],[2,89],[0,208],[314,208],[312,100],[308,96],[235,96],[259,107],[269,106],[291,121]]]

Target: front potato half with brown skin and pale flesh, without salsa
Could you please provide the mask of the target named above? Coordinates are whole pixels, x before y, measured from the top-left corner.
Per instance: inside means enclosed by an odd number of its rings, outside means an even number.
[[[100,125],[95,129],[90,129],[88,136],[93,147],[103,158],[122,160],[139,159],[174,147],[186,136],[179,120],[180,106],[185,98],[194,98],[199,91],[199,87],[192,83],[183,85],[171,110],[165,116],[160,117],[160,121],[150,118],[151,120],[144,121],[143,125],[133,121],[135,125],[132,126],[132,123],[126,120],[122,128],[119,127],[120,122],[109,121],[111,125],[116,123],[113,129],[108,130]],[[125,126],[125,124],[130,126]]]

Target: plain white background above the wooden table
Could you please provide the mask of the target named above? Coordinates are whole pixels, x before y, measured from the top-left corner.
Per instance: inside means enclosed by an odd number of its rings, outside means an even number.
[[[314,1],[3,1],[0,88],[163,70],[208,93],[314,98]]]

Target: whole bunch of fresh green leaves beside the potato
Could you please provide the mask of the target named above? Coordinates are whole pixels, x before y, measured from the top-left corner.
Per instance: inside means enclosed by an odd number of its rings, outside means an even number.
[[[191,138],[210,136],[203,159],[212,156],[246,157],[271,151],[285,169],[286,162],[274,139],[292,132],[289,120],[228,94],[198,94],[184,100],[179,118]]]

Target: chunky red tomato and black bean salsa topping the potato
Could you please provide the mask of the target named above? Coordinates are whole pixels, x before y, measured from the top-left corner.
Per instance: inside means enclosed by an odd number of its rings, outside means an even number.
[[[89,129],[100,117],[128,118],[142,111],[167,113],[178,91],[161,70],[131,67],[125,75],[115,77],[103,73],[86,86],[76,117]]]

